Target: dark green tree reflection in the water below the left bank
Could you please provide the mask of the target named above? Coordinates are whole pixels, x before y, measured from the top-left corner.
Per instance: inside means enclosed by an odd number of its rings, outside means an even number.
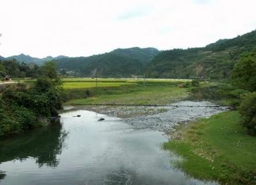
[[[57,166],[67,132],[59,122],[0,142],[0,163],[35,158],[39,166]]]

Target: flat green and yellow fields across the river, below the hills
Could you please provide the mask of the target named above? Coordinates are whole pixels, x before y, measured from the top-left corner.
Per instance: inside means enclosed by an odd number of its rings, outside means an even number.
[[[65,78],[63,88],[70,95],[70,104],[111,103],[156,105],[188,97],[188,89],[178,85],[190,80],[99,78],[97,88],[92,78]],[[90,96],[84,97],[90,91]]]

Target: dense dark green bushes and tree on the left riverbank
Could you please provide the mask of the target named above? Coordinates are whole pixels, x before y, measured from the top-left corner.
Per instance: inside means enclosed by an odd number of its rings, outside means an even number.
[[[54,63],[45,63],[40,71],[35,83],[13,85],[3,92],[0,99],[0,137],[41,126],[58,115],[63,93]]]

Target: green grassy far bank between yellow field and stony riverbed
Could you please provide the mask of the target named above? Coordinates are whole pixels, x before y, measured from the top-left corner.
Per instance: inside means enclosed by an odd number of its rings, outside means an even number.
[[[180,82],[179,82],[180,83]],[[86,90],[91,96],[82,98]],[[188,96],[188,89],[178,87],[177,82],[132,82],[115,87],[99,87],[84,89],[66,89],[69,94],[80,97],[70,98],[70,104],[83,105],[87,103],[116,103],[116,104],[166,104]],[[83,94],[81,94],[83,93]],[[86,96],[86,95],[85,95]]]

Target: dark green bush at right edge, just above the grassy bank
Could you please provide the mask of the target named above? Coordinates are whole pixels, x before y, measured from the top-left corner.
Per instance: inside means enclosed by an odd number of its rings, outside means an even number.
[[[256,135],[256,92],[244,96],[239,107],[241,122],[250,135]]]

